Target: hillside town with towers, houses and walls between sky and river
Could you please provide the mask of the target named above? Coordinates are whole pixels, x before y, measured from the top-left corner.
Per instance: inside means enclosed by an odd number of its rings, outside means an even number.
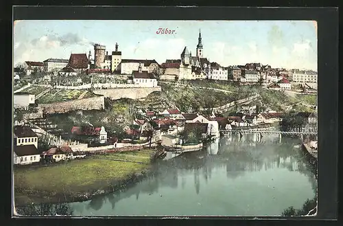
[[[95,43],[69,59],[16,65],[16,168],[121,159],[125,152],[125,161],[154,161],[235,134],[254,133],[257,142],[270,131],[301,135],[300,144],[316,159],[317,72],[220,65],[204,57],[202,36],[200,30],[195,35],[196,54],[184,47],[165,62],[125,58],[120,43],[115,49]],[[281,141],[284,135],[275,134]],[[139,157],[130,159],[132,153]]]

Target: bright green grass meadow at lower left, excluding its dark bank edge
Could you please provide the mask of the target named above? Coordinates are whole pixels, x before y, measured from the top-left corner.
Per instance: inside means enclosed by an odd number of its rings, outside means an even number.
[[[61,192],[101,189],[149,167],[152,150],[95,155],[40,168],[14,169],[14,188]],[[115,161],[121,160],[121,161]],[[132,163],[126,161],[139,161]]]

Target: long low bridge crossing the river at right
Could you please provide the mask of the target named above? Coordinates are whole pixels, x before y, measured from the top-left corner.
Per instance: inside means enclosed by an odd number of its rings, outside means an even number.
[[[261,141],[263,134],[277,134],[279,135],[279,143],[282,141],[282,135],[298,135],[300,139],[303,141],[303,135],[318,135],[317,132],[284,132],[284,131],[259,131],[259,130],[220,130],[220,133],[224,136],[230,135],[233,133],[238,133],[241,139],[244,139],[244,134],[246,133],[257,133],[257,138]]]

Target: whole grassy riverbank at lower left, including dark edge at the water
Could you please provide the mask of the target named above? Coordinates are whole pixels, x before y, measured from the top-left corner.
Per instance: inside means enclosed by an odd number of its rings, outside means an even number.
[[[14,169],[16,205],[86,201],[137,183],[151,172],[153,150],[96,155],[56,166]]]

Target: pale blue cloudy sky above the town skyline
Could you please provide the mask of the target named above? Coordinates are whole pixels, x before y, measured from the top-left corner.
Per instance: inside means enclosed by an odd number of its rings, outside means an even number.
[[[156,34],[158,28],[174,34]],[[180,59],[187,46],[196,56],[199,30],[204,57],[227,67],[261,63],[317,71],[315,21],[15,21],[14,66],[47,58],[69,59],[93,44],[110,54],[119,45],[123,59]]]

